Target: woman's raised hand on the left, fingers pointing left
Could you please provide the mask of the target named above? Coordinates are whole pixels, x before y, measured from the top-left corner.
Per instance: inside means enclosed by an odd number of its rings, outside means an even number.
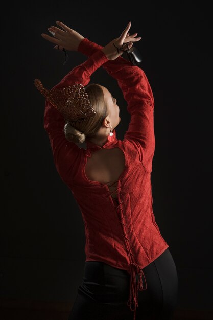
[[[56,24],[63,30],[55,26],[51,26],[50,28],[48,28],[48,30],[53,35],[53,37],[45,33],[42,33],[41,36],[44,39],[55,43],[55,49],[63,50],[64,48],[69,51],[78,51],[79,44],[84,39],[84,37],[77,31],[70,29],[60,21],[56,21]]]

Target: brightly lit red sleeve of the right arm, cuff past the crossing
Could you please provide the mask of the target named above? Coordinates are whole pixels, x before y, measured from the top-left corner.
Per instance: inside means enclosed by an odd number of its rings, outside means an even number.
[[[78,51],[90,56],[102,49],[100,45],[84,38]],[[117,80],[127,101],[127,111],[131,120],[124,135],[124,141],[130,141],[137,149],[140,161],[149,172],[152,171],[152,159],[155,150],[154,135],[154,98],[145,72],[129,61],[118,57],[107,61],[102,67]]]

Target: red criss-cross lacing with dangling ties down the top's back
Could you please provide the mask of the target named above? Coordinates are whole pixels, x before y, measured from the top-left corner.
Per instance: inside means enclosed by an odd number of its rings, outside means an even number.
[[[111,187],[112,185],[114,185],[117,181],[113,182],[113,184],[111,184],[108,187]],[[109,192],[109,197],[117,192],[117,204],[112,204],[113,207],[116,208],[117,213],[119,213],[119,219],[121,224],[124,226],[125,230],[124,230],[124,234],[121,233],[121,235],[124,237],[124,243],[126,244],[127,242],[125,240],[127,240],[129,242],[129,247],[127,245],[125,245],[125,250],[127,252],[127,256],[130,259],[130,263],[129,263],[129,271],[130,271],[130,295],[129,295],[129,300],[127,302],[127,305],[130,307],[130,309],[132,311],[134,311],[134,320],[136,319],[136,307],[138,307],[138,303],[137,303],[137,295],[138,295],[138,290],[142,291],[142,290],[146,290],[147,289],[147,282],[146,282],[146,278],[144,275],[143,270],[138,266],[137,263],[135,263],[135,256],[134,253],[131,252],[133,247],[131,246],[130,240],[128,238],[128,230],[127,230],[127,224],[125,221],[125,216],[126,214],[123,214],[123,208],[122,208],[122,201],[120,198],[120,194],[122,193],[121,190],[118,191],[119,189],[121,189],[121,187],[117,187],[115,191],[111,192],[110,190],[108,190]],[[112,199],[114,199],[112,197]],[[136,281],[136,274],[138,274],[139,278],[138,278],[138,282]],[[143,277],[144,276],[144,280],[145,280],[145,284],[146,287],[143,288]],[[133,308],[132,308],[132,304],[133,304]]]

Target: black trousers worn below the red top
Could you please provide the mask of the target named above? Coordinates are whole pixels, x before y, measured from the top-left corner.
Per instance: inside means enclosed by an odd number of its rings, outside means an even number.
[[[147,289],[138,290],[136,320],[172,320],[178,275],[169,248],[143,271]],[[104,262],[85,262],[83,281],[68,320],[133,320],[134,311],[127,305],[129,288],[130,275],[126,270]]]

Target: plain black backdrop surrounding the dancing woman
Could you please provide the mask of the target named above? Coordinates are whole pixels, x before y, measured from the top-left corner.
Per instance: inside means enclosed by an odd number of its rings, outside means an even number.
[[[80,210],[54,166],[43,128],[44,99],[81,53],[62,52],[41,37],[55,21],[98,44],[120,36],[129,21],[155,98],[153,211],[179,275],[180,309],[212,309],[211,10],[208,2],[61,1],[6,4],[2,11],[1,213],[3,298],[72,300],[84,266]],[[128,128],[120,89],[102,69],[92,82],[117,98],[123,139]]]

